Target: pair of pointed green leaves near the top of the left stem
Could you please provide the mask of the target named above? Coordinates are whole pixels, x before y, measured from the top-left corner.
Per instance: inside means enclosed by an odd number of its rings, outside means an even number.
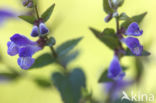
[[[50,18],[50,16],[53,13],[55,4],[51,5],[42,15],[41,18],[43,19],[44,22],[47,22]],[[34,16],[19,16],[19,18],[21,18],[22,20],[30,23],[30,24],[34,24],[36,18]]]

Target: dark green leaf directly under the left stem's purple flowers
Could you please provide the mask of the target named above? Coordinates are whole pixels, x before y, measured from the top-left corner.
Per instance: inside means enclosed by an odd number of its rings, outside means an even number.
[[[30,69],[41,68],[46,65],[52,64],[54,62],[55,62],[54,57],[52,57],[51,54],[46,53],[46,54],[39,56],[37,59],[35,59],[35,63],[32,65]]]

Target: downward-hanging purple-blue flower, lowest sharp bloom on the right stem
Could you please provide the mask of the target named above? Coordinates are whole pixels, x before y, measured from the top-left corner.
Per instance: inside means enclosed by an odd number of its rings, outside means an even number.
[[[107,76],[113,80],[121,80],[125,76],[125,73],[122,71],[119,59],[116,55],[109,66]]]

